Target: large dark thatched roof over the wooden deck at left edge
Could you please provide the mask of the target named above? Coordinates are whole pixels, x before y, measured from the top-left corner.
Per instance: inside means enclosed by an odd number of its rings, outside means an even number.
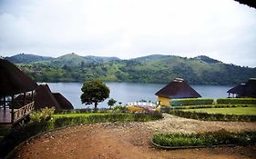
[[[36,82],[14,64],[0,58],[0,96],[32,91],[36,86]]]

